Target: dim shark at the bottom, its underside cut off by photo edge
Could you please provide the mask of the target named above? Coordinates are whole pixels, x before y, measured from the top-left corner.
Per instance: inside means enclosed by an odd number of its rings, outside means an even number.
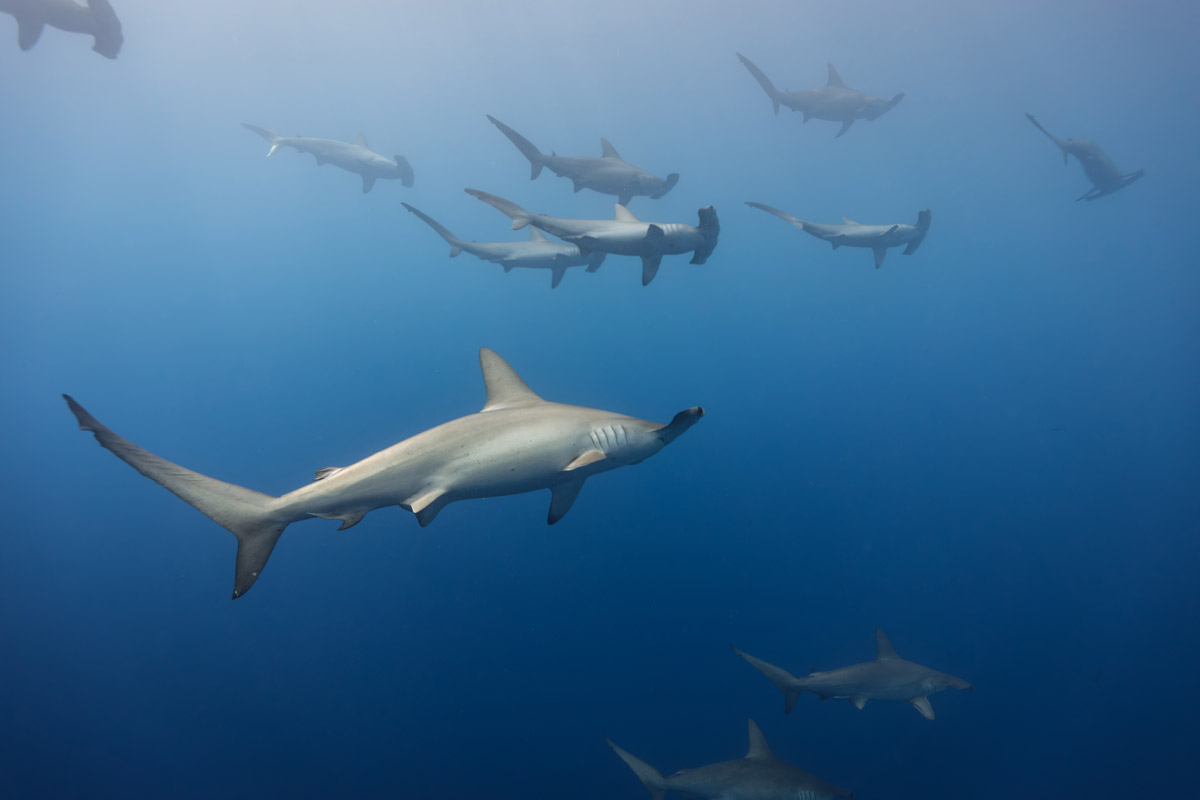
[[[750,748],[745,758],[680,769],[670,776],[626,753],[612,740],[605,741],[650,790],[653,800],[662,800],[668,793],[696,800],[832,800],[854,796],[853,792],[775,758],[762,730],[754,720],[749,722]]]

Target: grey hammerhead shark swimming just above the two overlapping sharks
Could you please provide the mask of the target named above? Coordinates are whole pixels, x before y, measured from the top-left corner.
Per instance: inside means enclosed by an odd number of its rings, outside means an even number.
[[[599,158],[559,156],[553,152],[547,156],[529,139],[491,114],[487,119],[529,160],[529,180],[538,178],[542,167],[548,167],[559,178],[571,179],[576,192],[589,188],[601,194],[614,194],[622,205],[629,205],[635,196],[648,196],[656,200],[679,182],[679,173],[671,173],[664,179],[628,163],[608,139],[600,139]]]

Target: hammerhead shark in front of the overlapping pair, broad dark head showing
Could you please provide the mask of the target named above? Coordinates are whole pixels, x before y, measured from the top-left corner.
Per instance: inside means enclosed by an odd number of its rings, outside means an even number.
[[[586,251],[641,257],[643,287],[654,279],[664,255],[690,252],[691,264],[703,264],[716,247],[721,231],[716,210],[710,205],[698,211],[700,227],[679,222],[642,222],[620,204],[613,219],[568,219],[532,213],[516,203],[479,190],[464,191],[509,216],[514,230],[533,225]]]

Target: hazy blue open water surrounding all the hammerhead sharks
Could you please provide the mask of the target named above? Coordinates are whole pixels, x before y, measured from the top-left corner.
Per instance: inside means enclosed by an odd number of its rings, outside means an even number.
[[[116,61],[0,14],[0,794],[644,798],[775,753],[858,798],[1188,796],[1200,13],[1177,2],[121,0]],[[11,40],[11,41],[10,41]],[[781,89],[894,110],[811,121]],[[1024,118],[1146,178],[1096,203]],[[703,266],[610,255],[550,289],[446,247],[517,239],[462,192],[604,217],[528,163],[605,136],[713,204]],[[406,190],[239,124],[403,154]],[[817,221],[934,213],[912,257]],[[77,429],[280,494],[482,403],[476,350],[540,395],[667,421],[644,464],[547,493],[282,537],[232,602],[234,539]],[[973,692],[782,696],[900,655]]]

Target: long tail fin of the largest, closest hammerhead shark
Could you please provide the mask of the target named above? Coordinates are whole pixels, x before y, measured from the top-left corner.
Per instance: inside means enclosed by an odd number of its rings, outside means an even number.
[[[160,458],[106,428],[71,396],[62,397],[80,431],[90,431],[106,450],[238,537],[233,596],[246,594],[266,565],[280,534],[292,522],[278,513],[278,498]]]

